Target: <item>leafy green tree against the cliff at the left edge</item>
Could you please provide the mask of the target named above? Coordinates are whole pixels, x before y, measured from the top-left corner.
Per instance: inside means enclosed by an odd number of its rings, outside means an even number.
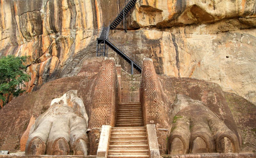
[[[0,58],[0,100],[6,105],[10,96],[18,96],[25,90],[20,89],[30,76],[26,74],[27,67],[23,65],[27,56],[3,56]],[[0,106],[0,109],[2,107]]]

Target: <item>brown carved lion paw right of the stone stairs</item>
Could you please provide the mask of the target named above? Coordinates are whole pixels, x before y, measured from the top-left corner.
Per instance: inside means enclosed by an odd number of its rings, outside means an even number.
[[[169,154],[235,153],[236,134],[202,102],[177,95],[172,104],[173,123]]]

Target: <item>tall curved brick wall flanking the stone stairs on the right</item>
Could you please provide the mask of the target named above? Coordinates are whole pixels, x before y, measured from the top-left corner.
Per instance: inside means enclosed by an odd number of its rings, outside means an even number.
[[[150,59],[143,61],[140,96],[144,125],[156,125],[160,154],[166,154],[169,131],[161,129],[170,130],[170,119],[168,115],[168,111],[170,111],[168,106],[169,101],[164,96],[161,81]]]

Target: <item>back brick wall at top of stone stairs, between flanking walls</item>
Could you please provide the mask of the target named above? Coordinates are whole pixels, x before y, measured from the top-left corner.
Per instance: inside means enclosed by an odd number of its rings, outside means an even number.
[[[122,69],[121,102],[140,102],[140,76],[131,75]]]

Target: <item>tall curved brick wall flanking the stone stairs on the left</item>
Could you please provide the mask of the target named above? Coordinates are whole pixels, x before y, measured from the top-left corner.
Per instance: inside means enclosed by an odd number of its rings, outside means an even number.
[[[118,79],[115,61],[113,59],[104,60],[98,68],[97,80],[92,89],[92,105],[90,108],[90,119],[88,128],[90,139],[90,154],[95,155],[99,145],[100,128],[102,125],[114,127],[116,121],[116,108],[118,104]]]

